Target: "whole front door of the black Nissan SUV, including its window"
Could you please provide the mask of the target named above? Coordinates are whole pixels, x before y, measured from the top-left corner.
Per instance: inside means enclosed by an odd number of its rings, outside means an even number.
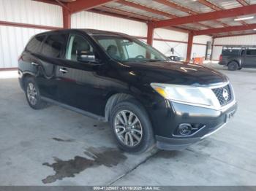
[[[57,69],[61,103],[102,115],[104,98],[98,83],[102,65],[78,61],[78,52],[94,52],[94,48],[84,37],[71,34],[66,52],[65,66]]]

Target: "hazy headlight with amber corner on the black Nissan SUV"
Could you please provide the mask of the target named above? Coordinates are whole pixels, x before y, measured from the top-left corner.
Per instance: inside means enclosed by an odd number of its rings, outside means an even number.
[[[208,87],[196,87],[191,85],[168,85],[151,83],[151,87],[162,97],[170,101],[183,104],[199,105],[218,109],[219,101],[214,92]]]

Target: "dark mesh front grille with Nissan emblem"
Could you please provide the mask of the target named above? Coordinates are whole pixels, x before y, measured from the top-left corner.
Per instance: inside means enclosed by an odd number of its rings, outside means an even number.
[[[214,94],[217,96],[219,100],[219,104],[221,106],[225,106],[230,103],[232,100],[232,91],[230,89],[230,85],[226,85],[224,87],[218,87],[215,89],[212,89]]]

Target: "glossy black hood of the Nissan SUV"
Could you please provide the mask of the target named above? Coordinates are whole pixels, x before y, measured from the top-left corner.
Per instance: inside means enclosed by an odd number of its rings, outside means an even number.
[[[206,66],[192,63],[163,61],[124,64],[129,76],[139,77],[140,82],[176,85],[215,85],[227,82],[227,77]]]

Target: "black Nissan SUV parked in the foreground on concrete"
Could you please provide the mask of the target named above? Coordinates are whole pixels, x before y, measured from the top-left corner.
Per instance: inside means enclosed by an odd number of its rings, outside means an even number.
[[[34,36],[20,55],[20,86],[33,109],[59,104],[110,122],[127,152],[184,149],[236,112],[218,71],[170,61],[132,36],[91,29]]]

